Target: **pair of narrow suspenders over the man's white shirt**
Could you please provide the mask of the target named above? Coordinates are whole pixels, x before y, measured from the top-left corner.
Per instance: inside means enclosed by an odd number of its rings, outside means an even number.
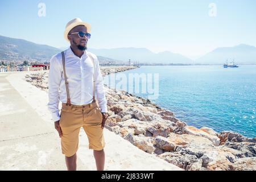
[[[96,102],[95,100],[95,65],[94,65],[94,59],[92,57],[92,55],[90,55],[89,53],[87,53],[88,56],[90,57],[90,59],[92,60],[93,63],[93,102]],[[66,75],[66,71],[65,71],[65,56],[64,56],[64,52],[61,52],[62,55],[62,65],[63,65],[63,72],[64,72],[64,78],[65,78],[65,86],[66,86],[66,90],[67,90],[67,105],[71,105],[71,100],[69,97],[69,90],[68,90],[68,80],[67,80],[67,75]]]

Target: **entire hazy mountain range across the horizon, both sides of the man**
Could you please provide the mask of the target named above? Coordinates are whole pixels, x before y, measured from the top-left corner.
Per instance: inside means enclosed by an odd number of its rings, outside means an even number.
[[[60,52],[64,48],[55,48],[47,45],[28,42],[23,39],[14,39],[0,36],[0,59],[19,60],[36,59],[49,61],[52,55]],[[236,64],[256,64],[256,47],[240,44],[234,47],[220,47],[201,56],[199,59],[191,60],[188,57],[164,51],[154,53],[147,48],[111,48],[94,49],[88,51],[96,54],[101,62],[127,63],[160,63],[160,64],[223,64],[227,59],[234,59]]]

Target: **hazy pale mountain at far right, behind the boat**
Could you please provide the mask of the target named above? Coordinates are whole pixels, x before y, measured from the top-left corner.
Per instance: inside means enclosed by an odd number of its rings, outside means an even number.
[[[234,59],[236,64],[256,64],[256,47],[240,44],[234,47],[220,47],[200,57],[195,62],[201,64],[224,64]]]

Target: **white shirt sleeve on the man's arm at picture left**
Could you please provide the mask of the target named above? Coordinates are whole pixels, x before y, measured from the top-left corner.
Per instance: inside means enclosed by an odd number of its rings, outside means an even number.
[[[48,110],[52,114],[52,120],[60,120],[59,114],[59,88],[61,81],[60,63],[56,56],[52,56],[48,77]]]

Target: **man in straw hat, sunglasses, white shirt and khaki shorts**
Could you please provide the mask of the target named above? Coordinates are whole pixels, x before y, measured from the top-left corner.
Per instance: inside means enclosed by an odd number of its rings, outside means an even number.
[[[86,51],[90,24],[79,18],[71,20],[65,28],[64,38],[70,42],[70,47],[52,56],[50,61],[48,109],[61,138],[67,169],[76,170],[79,131],[83,127],[89,149],[93,149],[97,170],[104,170],[103,129],[108,117],[107,101],[97,56]],[[59,101],[62,102],[60,115]]]

